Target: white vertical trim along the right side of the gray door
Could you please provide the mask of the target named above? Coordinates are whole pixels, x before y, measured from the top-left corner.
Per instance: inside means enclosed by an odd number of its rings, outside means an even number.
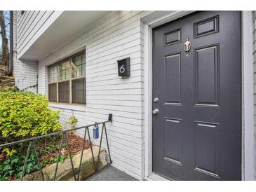
[[[242,179],[254,180],[252,12],[242,11]]]

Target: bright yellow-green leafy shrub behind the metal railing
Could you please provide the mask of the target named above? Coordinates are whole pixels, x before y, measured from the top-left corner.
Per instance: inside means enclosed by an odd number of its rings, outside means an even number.
[[[59,118],[59,111],[49,109],[43,95],[0,92],[0,142],[58,131],[61,129]]]

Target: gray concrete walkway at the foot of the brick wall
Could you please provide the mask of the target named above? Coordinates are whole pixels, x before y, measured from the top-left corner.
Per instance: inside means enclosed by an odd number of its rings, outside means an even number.
[[[137,179],[110,165],[86,181],[137,181]]]

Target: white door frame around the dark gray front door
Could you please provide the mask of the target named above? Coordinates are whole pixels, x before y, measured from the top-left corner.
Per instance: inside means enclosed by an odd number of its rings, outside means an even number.
[[[142,15],[144,29],[144,179],[152,173],[152,29],[195,11],[150,11]],[[241,11],[242,153],[241,178],[254,180],[254,115],[252,12]],[[246,67],[245,67],[246,66]],[[246,100],[245,100],[246,98]],[[158,177],[159,179],[161,177]]]

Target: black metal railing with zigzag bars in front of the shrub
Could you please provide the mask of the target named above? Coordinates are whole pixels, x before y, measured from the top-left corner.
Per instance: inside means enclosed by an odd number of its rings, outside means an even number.
[[[45,178],[44,178],[43,170],[42,170],[43,167],[41,166],[41,163],[40,163],[39,153],[37,151],[38,149],[36,148],[36,146],[37,146],[36,141],[38,139],[51,137],[53,135],[62,135],[62,137],[60,139],[60,146],[59,146],[59,150],[58,150],[58,158],[57,158],[57,163],[56,163],[56,167],[55,167],[55,173],[54,173],[53,181],[55,181],[56,175],[57,175],[57,172],[58,172],[58,165],[59,165],[59,161],[60,161],[60,154],[61,154],[63,142],[66,142],[66,144],[67,144],[67,151],[68,151],[68,156],[69,156],[71,166],[72,166],[72,172],[73,172],[73,175],[74,175],[74,180],[79,181],[79,175],[80,175],[80,172],[81,172],[81,165],[82,165],[82,160],[83,160],[83,150],[84,150],[87,134],[88,134],[88,139],[89,139],[89,144],[90,144],[90,151],[91,151],[91,155],[92,155],[92,158],[93,158],[93,167],[94,167],[93,174],[95,174],[98,171],[98,165],[99,165],[99,160],[100,160],[100,150],[101,150],[101,147],[102,147],[102,137],[103,137],[103,132],[104,131],[105,131],[105,139],[106,139],[106,142],[107,142],[107,152],[108,152],[108,156],[109,156],[109,162],[107,163],[107,165],[105,167],[112,164],[112,159],[111,159],[110,151],[109,151],[109,142],[108,142],[108,139],[107,139],[107,128],[106,128],[106,123],[109,123],[109,122],[112,122],[112,114],[109,114],[108,121],[103,121],[101,123],[97,123],[97,125],[102,125],[102,132],[101,132],[101,136],[100,136],[100,148],[99,148],[99,151],[98,151],[98,154],[97,154],[97,163],[95,163],[95,158],[94,158],[93,148],[92,148],[93,144],[91,142],[90,132],[89,132],[89,128],[93,127],[95,124],[86,125],[86,126],[82,126],[82,127],[79,127],[79,128],[72,128],[72,129],[62,130],[62,131],[58,131],[58,132],[53,132],[53,133],[50,133],[48,135],[41,135],[41,136],[38,136],[38,137],[31,137],[31,138],[28,138],[28,139],[22,139],[22,140],[15,141],[15,142],[10,142],[10,143],[7,143],[7,144],[1,144],[0,149],[3,149],[5,147],[9,147],[9,146],[13,146],[13,145],[16,145],[16,144],[22,144],[24,142],[29,142],[29,145],[27,147],[27,153],[26,153],[26,156],[25,156],[24,165],[23,165],[23,168],[22,168],[21,180],[23,179],[23,177],[25,175],[25,170],[26,170],[27,161],[28,161],[28,158],[29,158],[29,153],[31,151],[31,148],[33,147],[34,151],[35,151],[35,155],[36,155],[37,164],[38,164],[40,172],[41,172],[41,177],[42,177],[42,180],[44,181]],[[83,146],[82,146],[82,149],[81,149],[81,158],[80,158],[80,163],[79,163],[79,170],[78,170],[78,172],[75,172],[73,161],[72,161],[72,154],[70,152],[70,147],[69,147],[69,143],[68,143],[67,132],[71,132],[71,131],[74,131],[74,130],[82,130],[82,129],[84,129]]]

